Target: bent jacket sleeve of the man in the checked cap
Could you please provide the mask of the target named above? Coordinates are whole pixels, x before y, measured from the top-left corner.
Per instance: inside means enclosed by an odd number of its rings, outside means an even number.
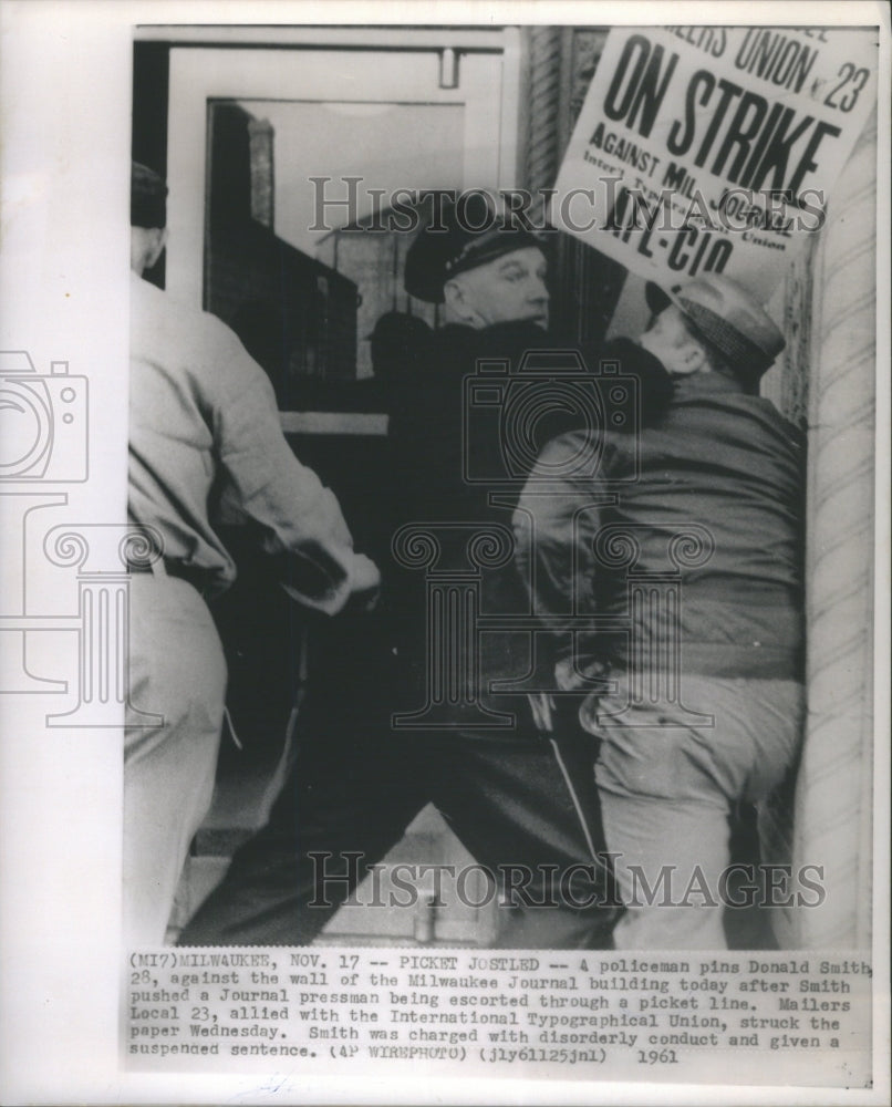
[[[515,558],[530,592],[533,614],[548,620],[561,659],[588,652],[573,617],[594,611],[593,539],[604,496],[574,464],[587,448],[584,432],[560,435],[544,447],[514,516]]]

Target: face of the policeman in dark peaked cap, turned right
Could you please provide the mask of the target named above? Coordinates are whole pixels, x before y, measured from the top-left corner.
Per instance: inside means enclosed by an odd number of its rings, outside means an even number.
[[[450,315],[477,329],[528,320],[548,327],[547,262],[535,246],[458,273],[444,287]]]

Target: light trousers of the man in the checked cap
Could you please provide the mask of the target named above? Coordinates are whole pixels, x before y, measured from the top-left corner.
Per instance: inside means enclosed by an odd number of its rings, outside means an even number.
[[[629,910],[618,949],[727,948],[723,925],[729,817],[740,798],[767,795],[795,757],[801,686],[688,675],[691,704],[713,715],[691,725],[666,705],[615,713],[625,685],[602,701],[595,778],[606,842]]]

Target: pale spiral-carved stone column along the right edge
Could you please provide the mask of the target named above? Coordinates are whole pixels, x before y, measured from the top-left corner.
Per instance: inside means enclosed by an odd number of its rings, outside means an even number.
[[[877,118],[833,188],[811,317],[808,723],[794,862],[824,867],[801,949],[870,944],[877,368]]]

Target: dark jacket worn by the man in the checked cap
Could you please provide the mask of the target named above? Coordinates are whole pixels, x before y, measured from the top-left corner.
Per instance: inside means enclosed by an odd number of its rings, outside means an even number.
[[[578,449],[578,435],[563,436],[541,463]],[[801,436],[769,401],[718,373],[683,379],[655,426],[608,437],[597,479],[521,500],[539,528],[536,548],[520,550],[521,565],[537,565],[537,610],[571,593],[575,544],[578,591],[621,624],[590,634],[577,656],[646,669],[677,634],[686,672],[801,679],[802,463]],[[615,503],[577,514],[599,495]],[[654,575],[649,602],[630,582]],[[681,582],[674,611],[657,599],[670,579]]]

